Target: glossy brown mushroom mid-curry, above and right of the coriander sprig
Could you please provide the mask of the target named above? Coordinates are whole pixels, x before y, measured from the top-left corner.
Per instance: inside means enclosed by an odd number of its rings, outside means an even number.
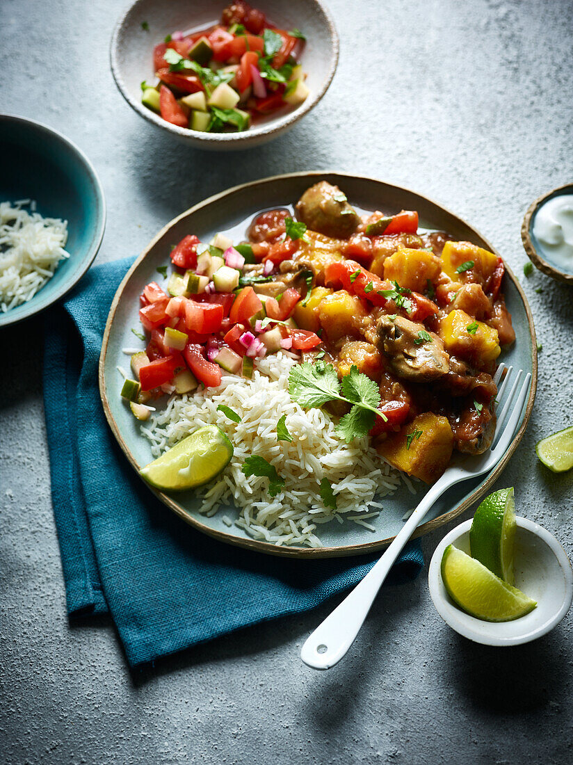
[[[384,315],[378,320],[378,334],[386,366],[397,377],[428,382],[448,373],[450,356],[444,350],[444,343],[423,324],[402,316],[391,319]]]

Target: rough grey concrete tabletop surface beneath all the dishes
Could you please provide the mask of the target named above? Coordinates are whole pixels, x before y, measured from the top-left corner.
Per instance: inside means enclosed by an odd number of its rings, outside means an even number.
[[[534,445],[573,423],[573,291],[524,278],[519,238],[530,201],[573,175],[571,2],[330,0],[341,54],[327,96],[276,142],[219,156],[172,142],[117,92],[123,5],[0,0],[0,110],[90,156],[108,204],[98,261],[135,255],[209,194],[298,169],[373,174],[464,216],[521,275],[543,344],[532,420],[498,487],[515,486],[518,512],[571,557],[573,472],[549,474]],[[573,615],[536,643],[477,646],[442,623],[425,574],[380,594],[330,672],[298,660],[326,604],[130,673],[108,620],[67,620],[36,327],[0,332],[2,763],[573,761]],[[428,558],[447,530],[425,538]]]

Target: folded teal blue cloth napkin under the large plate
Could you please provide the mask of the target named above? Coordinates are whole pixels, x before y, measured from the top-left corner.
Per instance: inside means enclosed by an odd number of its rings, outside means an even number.
[[[137,665],[317,606],[360,581],[377,556],[296,561],[224,545],[138,479],[109,430],[97,379],[109,306],[131,263],[90,269],[44,314],[44,405],[68,612],[109,611]],[[409,581],[422,565],[414,542],[390,581]]]

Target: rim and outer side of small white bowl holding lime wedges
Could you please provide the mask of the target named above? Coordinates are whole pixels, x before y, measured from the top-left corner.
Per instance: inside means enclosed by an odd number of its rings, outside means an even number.
[[[516,517],[517,526],[519,526],[521,529],[526,529],[532,534],[535,534],[539,539],[542,540],[542,542],[545,542],[545,545],[549,547],[553,555],[555,555],[555,558],[557,558],[559,568],[561,568],[563,571],[565,578],[565,597],[561,606],[555,612],[554,616],[547,620],[544,624],[539,625],[539,627],[536,629],[530,630],[527,633],[523,633],[523,635],[513,637],[486,637],[483,635],[483,633],[480,632],[480,619],[474,619],[476,624],[474,629],[472,629],[467,627],[464,622],[455,619],[455,611],[453,612],[454,615],[452,616],[452,613],[450,613],[448,609],[444,608],[444,604],[447,603],[448,606],[459,610],[460,613],[464,615],[464,617],[467,616],[467,614],[464,614],[464,611],[458,609],[457,606],[451,602],[448,594],[445,593],[445,588],[441,581],[441,558],[442,555],[444,555],[444,549],[446,549],[448,545],[454,545],[457,539],[461,537],[461,535],[464,535],[470,530],[472,522],[473,519],[470,518],[467,519],[467,521],[461,523],[459,526],[456,526],[455,529],[451,529],[451,532],[448,532],[448,534],[444,536],[444,539],[442,539],[438,544],[438,547],[436,547],[434,555],[431,556],[430,565],[428,567],[428,589],[430,591],[431,600],[435,605],[435,609],[438,611],[438,614],[440,614],[444,622],[448,624],[452,630],[455,630],[460,635],[467,637],[468,640],[473,640],[474,643],[481,643],[484,646],[500,647],[519,646],[523,643],[529,643],[532,640],[536,640],[538,637],[541,637],[542,635],[546,635],[553,629],[553,627],[557,627],[558,623],[565,618],[565,615],[571,607],[571,599],[573,598],[573,570],[571,570],[571,562],[569,561],[567,553],[563,549],[562,545],[559,544],[558,540],[555,539],[555,536],[553,536],[551,532],[549,532],[547,529],[544,529],[543,526],[539,526],[539,523],[530,521],[527,518],[521,518],[519,516]],[[487,624],[489,627],[492,625],[491,622],[483,623]],[[501,623],[503,624],[503,622]]]

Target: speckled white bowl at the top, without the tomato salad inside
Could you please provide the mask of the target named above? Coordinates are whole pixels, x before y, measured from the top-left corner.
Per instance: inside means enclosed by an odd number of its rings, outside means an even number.
[[[338,62],[338,35],[327,8],[318,0],[260,0],[252,5],[263,11],[278,28],[298,28],[307,40],[301,63],[308,77],[310,95],[296,109],[285,107],[240,133],[207,133],[179,128],[165,122],[142,105],[142,80],[155,81],[153,49],[171,32],[200,30],[216,24],[226,3],[223,0],[136,0],[119,19],[110,50],[112,73],[129,106],[148,122],[167,130],[187,145],[216,151],[250,148],[291,129],[326,93]],[[142,28],[148,24],[149,30]]]

